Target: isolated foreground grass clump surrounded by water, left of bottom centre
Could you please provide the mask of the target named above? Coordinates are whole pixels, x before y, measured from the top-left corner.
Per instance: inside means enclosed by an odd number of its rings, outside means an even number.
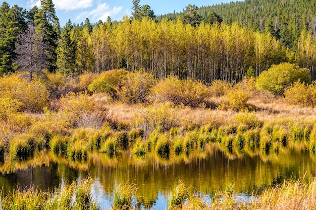
[[[119,209],[132,209],[133,208],[133,194],[136,191],[135,184],[121,183],[113,192],[112,208]]]

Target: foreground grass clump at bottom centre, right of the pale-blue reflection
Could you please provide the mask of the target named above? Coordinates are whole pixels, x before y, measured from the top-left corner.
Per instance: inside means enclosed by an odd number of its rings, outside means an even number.
[[[188,197],[189,187],[186,186],[182,181],[179,181],[179,184],[173,187],[170,190],[168,197],[168,206],[170,209],[181,209],[184,200]]]

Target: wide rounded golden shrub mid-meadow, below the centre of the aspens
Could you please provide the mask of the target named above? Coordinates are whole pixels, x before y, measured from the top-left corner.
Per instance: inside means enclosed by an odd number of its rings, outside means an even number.
[[[169,77],[161,81],[153,88],[157,102],[173,102],[175,105],[183,104],[190,107],[198,107],[206,103],[209,91],[199,81],[179,80]]]

